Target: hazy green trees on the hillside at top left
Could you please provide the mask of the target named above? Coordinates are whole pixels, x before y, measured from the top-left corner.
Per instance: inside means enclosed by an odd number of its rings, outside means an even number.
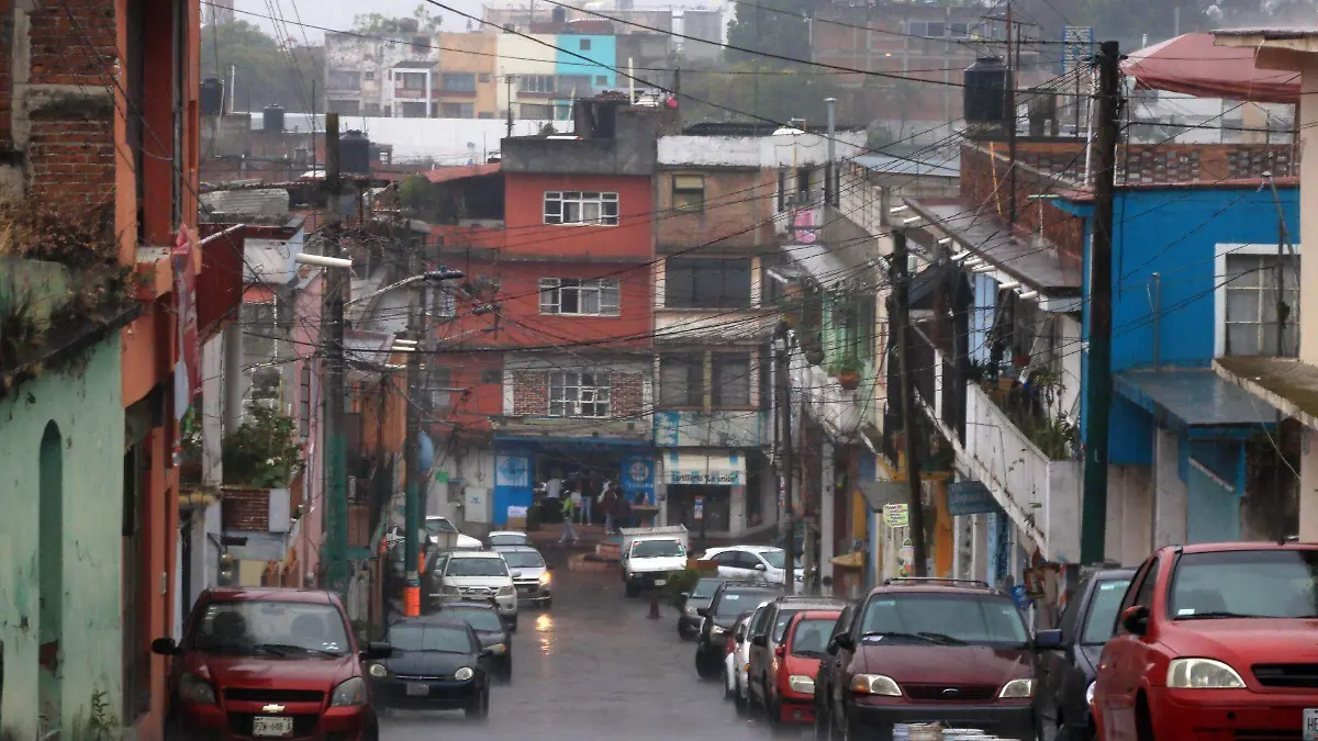
[[[285,45],[246,21],[212,24],[202,28],[202,78],[229,82],[229,65],[235,71],[236,111],[260,111],[282,105],[294,112],[324,111],[324,47]],[[291,54],[291,59],[290,59]],[[311,91],[316,91],[315,102]],[[228,91],[225,92],[228,95]]]

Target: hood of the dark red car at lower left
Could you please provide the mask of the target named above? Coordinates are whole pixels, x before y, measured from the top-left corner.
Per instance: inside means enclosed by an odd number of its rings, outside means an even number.
[[[360,676],[357,657],[236,657],[192,654],[188,670],[225,687],[272,687],[279,690],[320,690],[333,692],[343,680]]]

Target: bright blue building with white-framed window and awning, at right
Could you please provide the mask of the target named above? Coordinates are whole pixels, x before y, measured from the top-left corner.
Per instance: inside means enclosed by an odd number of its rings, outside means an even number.
[[[1089,297],[1093,204],[1056,203],[1086,219]],[[1261,537],[1268,530],[1265,508],[1249,506],[1251,494],[1259,492],[1248,488],[1247,451],[1251,440],[1273,427],[1275,413],[1220,380],[1211,364],[1224,355],[1277,353],[1278,218],[1289,233],[1298,233],[1298,189],[1281,187],[1276,198],[1257,185],[1213,183],[1128,187],[1116,194],[1111,558],[1130,560],[1131,554],[1164,543]],[[1298,257],[1289,251],[1281,277],[1288,302],[1296,306]],[[1089,301],[1083,320],[1087,338]],[[1294,353],[1296,336],[1293,319],[1284,353]],[[1082,419],[1087,413],[1082,407]],[[1251,510],[1259,513],[1252,523],[1242,518]],[[1149,531],[1136,537],[1144,542],[1123,547],[1120,531],[1149,521]]]

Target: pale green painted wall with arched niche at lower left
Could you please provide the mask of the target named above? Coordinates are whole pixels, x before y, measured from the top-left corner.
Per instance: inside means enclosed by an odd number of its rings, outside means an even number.
[[[5,740],[40,738],[42,697],[61,700],[58,728],[66,740],[86,724],[94,694],[107,692],[103,700],[115,716],[121,707],[119,332],[88,351],[84,363],[80,374],[46,372],[0,400],[0,738]],[[47,436],[51,422],[59,432],[58,455]],[[42,506],[42,488],[62,488],[59,506]],[[51,533],[58,548],[42,558],[41,541]],[[42,574],[42,563],[62,563],[59,576],[51,568]],[[42,614],[42,588],[53,589],[59,581],[58,599],[47,600],[58,605],[58,614],[49,609]],[[38,668],[42,626],[61,633],[54,674]]]

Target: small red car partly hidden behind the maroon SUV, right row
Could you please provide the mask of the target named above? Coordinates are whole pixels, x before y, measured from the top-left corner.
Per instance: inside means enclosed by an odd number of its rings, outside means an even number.
[[[774,676],[766,703],[770,723],[815,723],[815,678],[840,614],[840,609],[815,609],[792,616],[770,666]]]

